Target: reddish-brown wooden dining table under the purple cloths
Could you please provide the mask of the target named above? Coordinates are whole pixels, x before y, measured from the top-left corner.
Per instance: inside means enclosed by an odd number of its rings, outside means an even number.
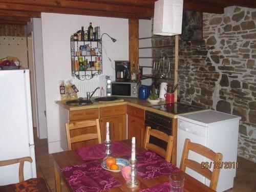
[[[120,143],[124,144],[127,147],[131,148],[131,139],[126,139],[119,141]],[[141,146],[136,144],[136,152],[143,152],[146,151],[145,148],[142,148]],[[117,156],[117,157],[121,157]],[[74,166],[82,163],[89,163],[92,161],[84,161],[82,160],[75,151],[65,151],[65,152],[59,152],[53,154],[54,158],[54,167],[55,167],[55,184],[56,184],[56,191],[61,191],[60,186],[60,179],[63,180],[63,182],[66,184],[67,188],[70,191],[73,191],[72,187],[66,180],[65,176],[61,173],[61,168],[67,167],[67,166]],[[95,160],[94,160],[95,161]],[[99,163],[102,162],[102,159],[96,160]],[[129,188],[126,186],[126,181],[122,177],[121,173],[114,173],[111,172],[112,176],[121,184],[119,187],[111,188],[107,191],[139,191],[145,188],[150,188],[155,185],[159,185],[161,183],[164,183],[169,180],[169,175],[162,175],[160,177],[154,178],[154,179],[147,179],[143,180],[139,175],[137,175],[137,179],[140,182],[139,187],[137,188]],[[193,177],[187,175],[186,173],[179,170],[178,174],[183,175],[185,177],[185,183],[184,183],[184,192],[203,192],[203,191],[215,191],[206,186],[205,184],[197,181]]]

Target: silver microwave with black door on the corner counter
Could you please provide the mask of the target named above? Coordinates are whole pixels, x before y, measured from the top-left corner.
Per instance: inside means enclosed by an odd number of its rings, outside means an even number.
[[[111,82],[111,95],[118,97],[138,97],[138,82]]]

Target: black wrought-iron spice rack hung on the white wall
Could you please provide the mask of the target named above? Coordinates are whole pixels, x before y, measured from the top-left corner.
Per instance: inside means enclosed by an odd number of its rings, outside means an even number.
[[[90,47],[97,46],[99,48],[100,54],[97,55],[76,55],[78,53],[80,46],[85,46],[90,44]],[[70,39],[70,50],[71,50],[71,69],[72,76],[78,78],[79,80],[89,80],[92,79],[95,75],[100,75],[102,73],[102,41],[99,40],[73,40]],[[75,61],[78,60],[78,57],[83,57],[83,60],[88,59],[89,61],[95,61],[94,57],[100,57],[100,69],[99,70],[87,70],[83,69],[82,71],[76,69]]]

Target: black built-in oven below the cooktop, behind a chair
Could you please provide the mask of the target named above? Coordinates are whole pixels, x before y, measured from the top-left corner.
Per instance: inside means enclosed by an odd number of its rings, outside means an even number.
[[[172,129],[173,119],[150,111],[145,111],[145,127],[151,126],[152,129],[159,130],[168,135],[173,135]],[[150,143],[153,143],[166,150],[167,142],[162,141],[154,136],[150,137]]]

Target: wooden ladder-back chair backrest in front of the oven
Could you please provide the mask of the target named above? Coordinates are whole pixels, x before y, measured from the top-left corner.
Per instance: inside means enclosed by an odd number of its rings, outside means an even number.
[[[161,139],[167,142],[166,151],[164,150],[164,148],[161,148],[153,143],[150,143],[150,136],[154,136],[158,139]],[[167,162],[170,162],[170,158],[172,158],[173,143],[174,143],[173,136],[163,133],[159,130],[151,129],[150,126],[146,127],[144,148],[146,148],[147,150],[151,150],[156,154],[164,157]]]

